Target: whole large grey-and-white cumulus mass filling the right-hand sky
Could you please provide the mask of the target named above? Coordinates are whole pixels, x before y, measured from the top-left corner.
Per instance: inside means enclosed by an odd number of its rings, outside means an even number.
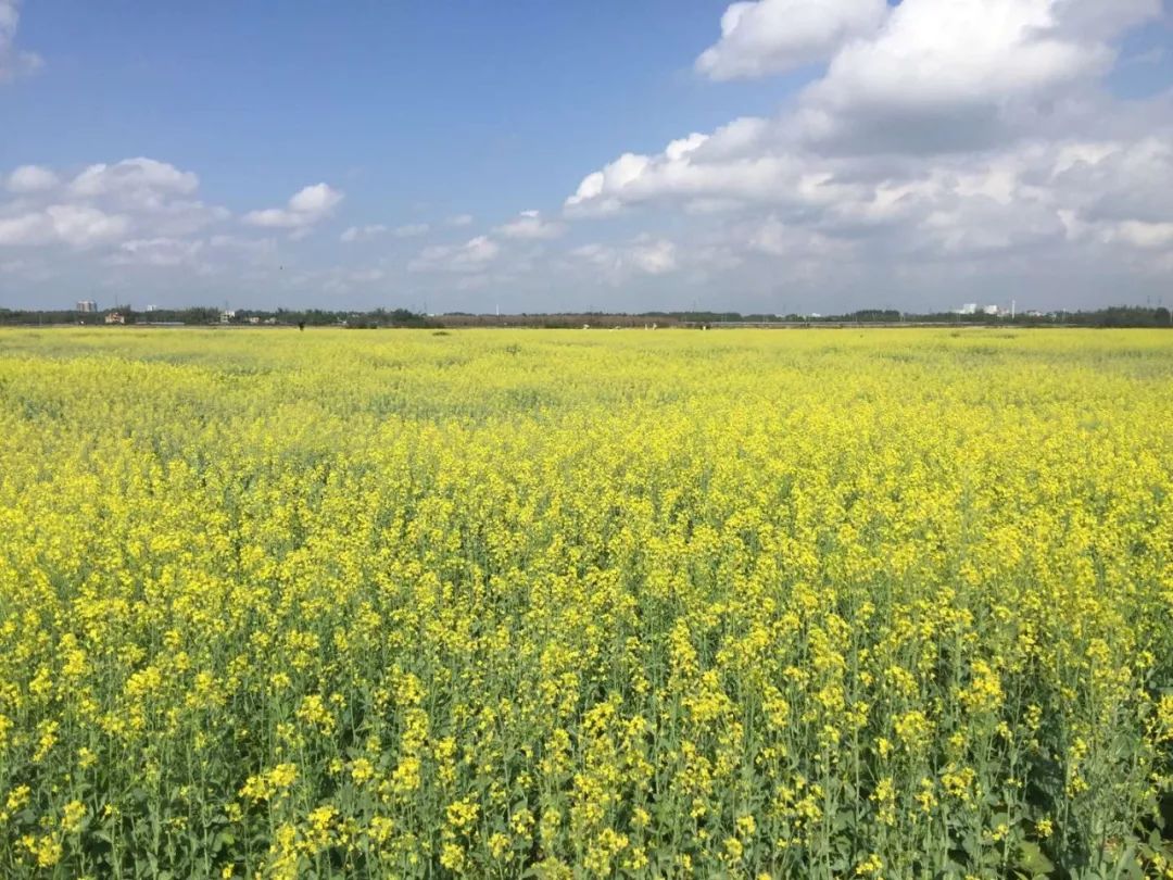
[[[828,276],[900,262],[994,271],[998,259],[1030,271],[1029,255],[1137,265],[1128,253],[1167,246],[1173,99],[1125,104],[1101,87],[1123,34],[1158,15],[1158,0],[865,6],[734,4],[704,73],[761,75],[820,52],[826,73],[779,116],[619,155],[582,180],[565,214],[704,212],[725,230],[714,252]],[[802,31],[813,21],[827,26],[818,39]],[[577,258],[621,259],[592,248]]]

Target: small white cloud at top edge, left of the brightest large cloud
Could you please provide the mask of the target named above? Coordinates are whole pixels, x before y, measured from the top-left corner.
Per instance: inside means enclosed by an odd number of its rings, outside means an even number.
[[[721,39],[697,59],[714,80],[762,76],[822,61],[853,38],[874,34],[884,0],[758,0],[732,4]]]

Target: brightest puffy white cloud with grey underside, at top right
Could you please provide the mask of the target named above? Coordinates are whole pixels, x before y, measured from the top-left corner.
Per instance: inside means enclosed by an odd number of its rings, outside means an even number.
[[[802,136],[823,148],[934,153],[1004,142],[1055,102],[1083,97],[1111,40],[1159,0],[904,0],[872,40],[846,45],[802,96]]]

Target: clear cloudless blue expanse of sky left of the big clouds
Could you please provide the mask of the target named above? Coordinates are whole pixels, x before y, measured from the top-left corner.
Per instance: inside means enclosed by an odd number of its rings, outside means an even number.
[[[307,175],[353,181],[355,217],[371,222],[407,222],[425,205],[557,207],[616,144],[635,136],[652,149],[682,127],[726,121],[728,96],[690,75],[723,6],[673,6],[632,5],[617,21],[542,2],[508,14],[365,2],[339,15],[327,2],[34,0],[22,40],[53,63],[6,90],[5,117],[28,134],[0,155],[165,156],[240,210],[287,197]],[[760,83],[738,90],[748,111],[777,102]]]

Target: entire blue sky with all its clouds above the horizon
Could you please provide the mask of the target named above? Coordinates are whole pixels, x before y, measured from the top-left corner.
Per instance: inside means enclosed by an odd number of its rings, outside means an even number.
[[[1144,302],[1173,39],[1103,7],[0,0],[0,305]]]

